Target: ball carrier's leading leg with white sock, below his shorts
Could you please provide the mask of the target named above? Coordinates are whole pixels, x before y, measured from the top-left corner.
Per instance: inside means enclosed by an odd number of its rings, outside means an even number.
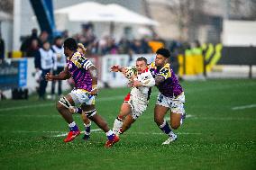
[[[120,129],[123,126],[123,120],[124,118],[129,115],[129,113],[132,112],[131,106],[129,103],[123,103],[120,109],[120,112],[118,116],[114,120],[114,125],[113,125],[113,131],[114,134],[119,134]]]

